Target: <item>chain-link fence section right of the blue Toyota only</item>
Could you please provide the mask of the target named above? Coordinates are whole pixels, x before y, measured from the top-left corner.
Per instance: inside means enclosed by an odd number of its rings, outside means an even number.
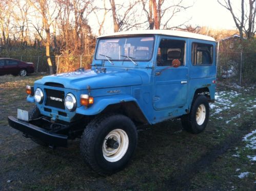
[[[239,86],[256,83],[256,52],[219,52],[218,82]]]

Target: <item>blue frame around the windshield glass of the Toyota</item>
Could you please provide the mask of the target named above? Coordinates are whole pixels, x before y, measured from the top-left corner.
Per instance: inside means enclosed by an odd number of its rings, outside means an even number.
[[[120,35],[120,36],[108,36],[108,37],[102,37],[102,38],[98,38],[97,39],[97,46],[96,46],[96,49],[95,49],[95,54],[94,54],[94,60],[107,60],[106,58],[105,59],[97,59],[96,58],[96,55],[97,55],[97,51],[98,51],[98,48],[99,48],[99,45],[100,45],[100,40],[105,40],[105,39],[115,39],[115,38],[130,38],[130,37],[153,37],[153,44],[152,44],[152,53],[151,53],[151,57],[149,59],[145,59],[145,60],[142,60],[142,59],[132,59],[133,61],[137,61],[137,62],[145,62],[145,61],[150,61],[152,58],[153,58],[153,55],[154,55],[154,49],[155,49],[155,35],[154,34],[140,34],[140,35]],[[108,55],[107,55],[108,56]],[[111,61],[121,61],[121,62],[125,62],[125,61],[130,61],[129,59],[110,59]]]

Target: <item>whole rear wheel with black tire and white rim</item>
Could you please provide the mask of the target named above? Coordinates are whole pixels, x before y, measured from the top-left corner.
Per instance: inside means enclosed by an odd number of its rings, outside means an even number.
[[[192,101],[189,114],[181,118],[183,129],[194,134],[201,133],[209,120],[209,103],[204,95],[197,95]]]

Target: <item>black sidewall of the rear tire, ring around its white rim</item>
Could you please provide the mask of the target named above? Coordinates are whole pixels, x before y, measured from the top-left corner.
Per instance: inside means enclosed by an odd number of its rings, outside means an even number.
[[[198,122],[196,122],[196,111],[198,110],[199,105],[201,104],[204,104],[206,109],[206,114],[205,114],[205,120],[203,124],[199,125]],[[208,99],[203,95],[199,95],[198,97],[196,97],[196,99],[193,102],[193,106],[191,108],[191,114],[190,114],[190,121],[192,123],[192,129],[194,133],[200,133],[206,128],[206,125],[209,120],[209,113],[210,113],[210,109],[209,109]]]

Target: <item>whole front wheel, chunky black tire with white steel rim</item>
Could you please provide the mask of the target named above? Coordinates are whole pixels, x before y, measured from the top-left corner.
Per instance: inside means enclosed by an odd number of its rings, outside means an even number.
[[[121,114],[98,116],[86,127],[81,154],[86,163],[99,174],[112,174],[130,161],[137,144],[134,123]]]

